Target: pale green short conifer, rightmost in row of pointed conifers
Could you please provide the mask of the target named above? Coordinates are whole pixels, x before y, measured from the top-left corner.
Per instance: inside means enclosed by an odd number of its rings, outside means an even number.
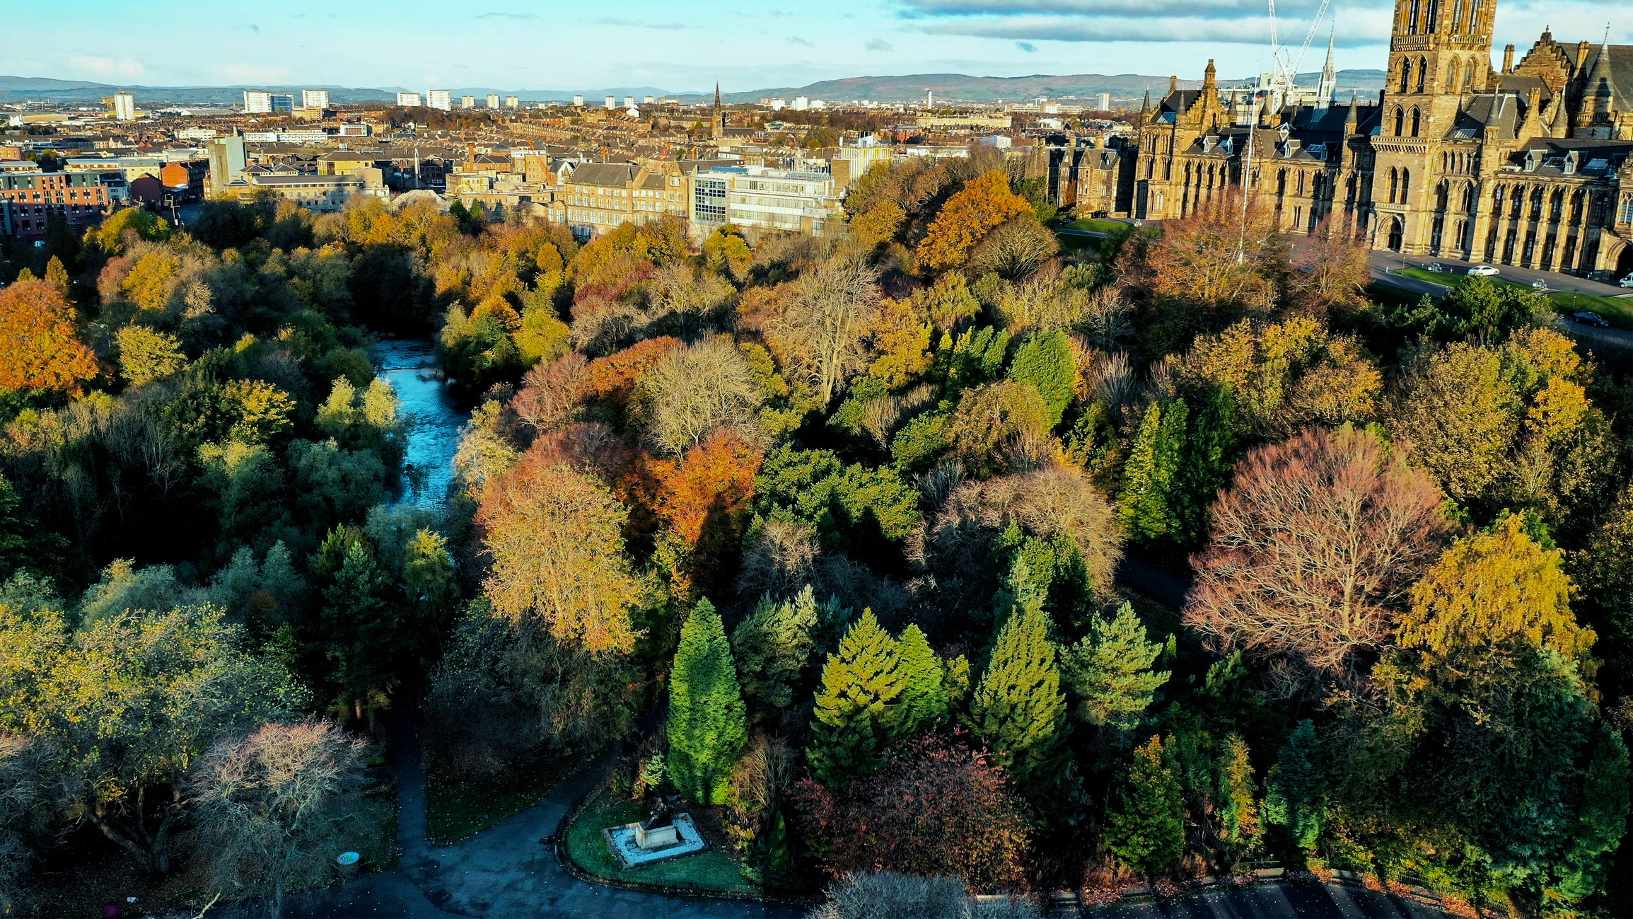
[[[1159,642],[1146,640],[1132,604],[1122,604],[1110,622],[1096,615],[1089,633],[1061,653],[1066,684],[1081,700],[1084,720],[1125,731],[1138,725],[1158,687],[1168,682],[1168,671],[1151,669],[1161,653]]]

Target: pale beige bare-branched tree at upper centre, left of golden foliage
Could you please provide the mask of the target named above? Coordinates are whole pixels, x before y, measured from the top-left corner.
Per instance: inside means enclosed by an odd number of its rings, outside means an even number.
[[[865,336],[879,313],[879,274],[861,263],[830,260],[808,271],[782,299],[768,330],[772,349],[833,403],[864,366]]]

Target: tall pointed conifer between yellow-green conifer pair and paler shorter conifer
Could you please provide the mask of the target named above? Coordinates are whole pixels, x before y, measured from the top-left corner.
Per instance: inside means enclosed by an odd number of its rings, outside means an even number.
[[[1027,581],[1024,562],[1016,563],[1011,581]],[[1035,591],[1022,591],[975,689],[970,730],[1014,782],[1026,784],[1055,753],[1065,713],[1066,697],[1060,692],[1043,599]]]

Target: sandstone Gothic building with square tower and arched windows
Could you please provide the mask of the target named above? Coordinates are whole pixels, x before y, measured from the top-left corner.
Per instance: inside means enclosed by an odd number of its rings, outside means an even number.
[[[1248,186],[1282,227],[1373,248],[1594,277],[1633,273],[1633,46],[1545,31],[1491,67],[1497,0],[1396,0],[1385,88],[1315,104],[1200,90],[1141,113],[1127,211],[1174,219]],[[1329,62],[1331,69],[1331,62]]]

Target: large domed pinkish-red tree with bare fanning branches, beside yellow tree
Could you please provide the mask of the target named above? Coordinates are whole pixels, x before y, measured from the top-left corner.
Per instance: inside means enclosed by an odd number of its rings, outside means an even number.
[[[1225,648],[1344,677],[1388,642],[1445,531],[1440,496],[1375,436],[1306,431],[1259,447],[1213,508],[1192,558],[1186,624]]]

